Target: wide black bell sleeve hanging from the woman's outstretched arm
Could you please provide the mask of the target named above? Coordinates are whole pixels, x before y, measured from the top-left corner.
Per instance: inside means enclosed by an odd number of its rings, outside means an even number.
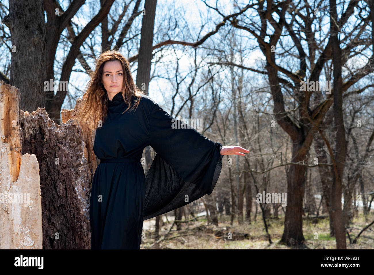
[[[156,156],[145,176],[143,220],[210,195],[221,173],[223,145],[179,121],[157,103],[150,113],[149,142]]]

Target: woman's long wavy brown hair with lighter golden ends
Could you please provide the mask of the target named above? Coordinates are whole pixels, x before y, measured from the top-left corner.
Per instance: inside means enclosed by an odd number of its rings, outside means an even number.
[[[101,83],[101,78],[104,71],[104,64],[107,61],[118,60],[121,62],[123,70],[123,84],[122,97],[127,103],[127,110],[136,110],[139,106],[141,94],[144,92],[135,85],[131,76],[130,64],[128,60],[116,50],[108,50],[103,52],[95,61],[95,69],[89,71],[90,80],[86,85],[85,93],[83,94],[82,103],[79,106],[78,121],[81,125],[87,124],[91,130],[95,130],[99,122],[105,122],[108,111],[108,94]],[[135,103],[131,107],[132,98],[136,97]],[[122,114],[123,114],[122,113]]]

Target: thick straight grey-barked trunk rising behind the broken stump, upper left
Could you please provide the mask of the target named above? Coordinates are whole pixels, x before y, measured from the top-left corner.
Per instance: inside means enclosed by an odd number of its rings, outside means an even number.
[[[50,88],[44,84],[47,56],[43,0],[9,0],[4,23],[12,40],[10,85],[21,91],[20,109],[31,112],[45,106],[45,93]]]

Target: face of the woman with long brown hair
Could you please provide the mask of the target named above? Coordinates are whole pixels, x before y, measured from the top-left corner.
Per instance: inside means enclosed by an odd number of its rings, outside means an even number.
[[[101,77],[101,83],[107,90],[109,100],[119,93],[122,89],[123,70],[119,60],[107,61],[104,63],[104,70]]]

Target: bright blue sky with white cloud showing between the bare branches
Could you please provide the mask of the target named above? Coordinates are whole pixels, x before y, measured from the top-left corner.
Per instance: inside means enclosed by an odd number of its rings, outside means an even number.
[[[128,1],[126,1],[127,3]],[[134,2],[134,1],[133,1]],[[7,1],[3,2],[5,5],[7,5]],[[59,1],[63,9],[67,9],[70,1]],[[88,0],[86,3],[81,7],[79,12],[76,16],[73,18],[73,23],[79,25],[79,30],[82,30],[82,27],[91,20],[91,18],[95,15],[95,13],[98,10],[98,4],[99,0]],[[116,16],[118,12],[121,11],[124,1],[115,1],[111,8],[111,12]],[[211,6],[215,6],[216,3],[218,4],[218,7],[221,12],[223,12],[225,15],[229,14],[230,12],[234,11],[233,1],[229,0],[219,0],[219,1],[206,1]],[[244,7],[246,1],[239,1],[238,4],[240,7]],[[309,1],[311,5],[313,5],[313,1]],[[144,5],[144,1],[142,1],[141,5]],[[134,6],[134,3],[132,3],[129,7],[128,13],[125,15],[125,18],[129,16],[129,12],[132,11]],[[347,3],[344,2],[343,5],[338,6],[338,14],[340,16],[342,10],[345,10],[347,6]],[[170,11],[173,11],[171,14]],[[237,9],[236,9],[237,10]],[[324,13],[324,10],[317,10],[316,16],[322,16]],[[246,12],[247,16],[251,15],[251,11]],[[169,16],[171,16],[171,19],[169,19]],[[273,16],[277,18],[277,15],[274,13]],[[126,36],[132,37],[136,34],[139,34],[140,26],[141,26],[141,18],[142,15],[138,16],[133,26],[129,32],[129,34]],[[321,28],[323,30],[323,34],[328,36],[328,30],[329,30],[329,18],[328,16],[323,17],[324,20],[321,22]],[[155,18],[155,27],[154,27],[154,41],[153,44],[159,43],[161,41],[164,41],[166,39],[174,39],[174,40],[184,40],[187,42],[194,42],[198,39],[200,39],[202,36],[204,36],[209,31],[214,30],[216,24],[220,22],[222,17],[217,14],[212,9],[209,9],[205,6],[203,1],[201,0],[179,0],[179,1],[172,1],[172,0],[158,0],[157,1],[157,10],[156,10],[156,18]],[[289,19],[289,18],[288,18]],[[354,18],[351,18],[350,24],[347,24],[347,27],[345,27],[345,31],[349,31],[349,26],[354,24]],[[111,20],[110,20],[111,21]],[[248,21],[248,20],[247,20]],[[178,24],[178,28],[176,30],[173,30],[174,24]],[[258,22],[250,22],[254,24],[258,24]],[[204,26],[201,30],[201,26]],[[204,62],[208,61],[217,61],[216,56],[207,56],[206,52],[207,50],[203,49],[204,47],[207,48],[218,48],[223,49],[226,54],[229,54],[229,48],[230,43],[235,43],[234,47],[236,49],[241,48],[243,49],[243,54],[236,53],[234,55],[234,60],[239,63],[240,58],[243,58],[243,65],[246,67],[252,67],[256,69],[263,70],[262,66],[264,64],[264,56],[262,52],[260,51],[258,47],[257,41],[254,39],[253,36],[249,35],[248,32],[243,30],[237,30],[233,29],[236,33],[236,40],[234,42],[229,42],[230,35],[226,37],[225,40],[221,39],[221,34],[225,34],[227,32],[229,27],[224,27],[220,29],[220,33],[215,34],[206,42],[203,43],[197,50],[197,62],[201,62],[203,60]],[[272,31],[270,25],[269,25],[269,33]],[[78,33],[77,28],[74,27],[74,30],[76,31],[76,34]],[[201,31],[200,31],[201,30]],[[233,31],[232,30],[232,31]],[[96,50],[96,55],[100,52],[100,43],[101,43],[101,28],[100,25],[96,27],[95,33],[92,34],[89,39],[86,41],[88,43],[95,42],[97,45],[94,46]],[[199,33],[200,32],[200,33]],[[64,35],[66,35],[67,31],[64,31]],[[115,37],[118,37],[118,33],[115,35]],[[122,48],[120,51],[125,55],[125,57],[133,56],[137,54],[137,48],[138,48],[138,40],[140,36],[137,36],[137,40],[132,40],[129,42],[129,48]],[[340,39],[343,39],[344,37],[340,36]],[[283,37],[283,43],[285,46],[287,46],[287,40],[289,37]],[[267,40],[268,42],[268,40]],[[305,43],[304,43],[305,44]],[[292,45],[292,44],[289,44]],[[70,45],[67,44],[68,47]],[[304,49],[306,49],[307,45],[303,45]],[[321,48],[324,45],[321,45]],[[343,45],[345,46],[345,45]],[[56,79],[59,80],[59,66],[61,66],[61,63],[63,62],[65,55],[67,54],[67,50],[63,47],[66,47],[66,45],[62,45],[60,43],[57,54],[56,54],[56,60],[55,60],[55,76]],[[67,47],[67,49],[68,49]],[[89,52],[89,50],[86,48],[81,47],[82,52]],[[370,54],[370,51],[368,51]],[[188,72],[190,72],[191,67],[193,67],[194,62],[194,51],[191,49],[190,46],[181,46],[181,45],[174,45],[174,46],[168,46],[166,49],[162,51],[162,53],[158,53],[154,56],[153,61],[156,59],[159,59],[160,54],[162,54],[162,59],[159,64],[157,64],[156,71],[154,64],[151,68],[151,73],[155,73],[156,76],[152,79],[149,86],[149,96],[153,98],[156,102],[162,105],[170,105],[170,96],[175,91],[175,84],[172,85],[172,83],[169,82],[169,80],[165,79],[167,76],[173,76],[175,74],[175,66],[176,66],[176,57],[180,58],[179,61],[179,70],[181,73],[181,77],[186,75]],[[294,68],[298,67],[298,60],[293,59],[282,59],[278,58],[277,62],[278,64],[282,65],[285,68],[288,68],[290,70],[293,70]],[[347,62],[347,65],[350,67],[361,67],[365,62],[367,62],[367,59],[363,58],[362,56],[357,56]],[[93,67],[93,59],[88,59],[88,63],[91,67]],[[1,64],[1,61],[0,61]],[[70,92],[74,97],[82,97],[86,83],[89,80],[88,75],[85,72],[78,72],[83,71],[82,66],[79,64],[79,62],[76,60],[76,65],[73,67],[73,72],[70,77]],[[1,64],[3,65],[3,64]],[[136,62],[133,62],[131,64],[132,72],[133,72],[133,78],[136,79]],[[218,70],[220,68],[217,68],[217,66],[214,68],[215,70]],[[221,68],[222,72],[220,73],[220,78],[224,79],[227,78],[230,74],[230,71],[228,68]],[[199,73],[204,72],[206,74],[207,67],[202,68],[199,70]],[[346,69],[343,68],[343,74],[346,73]],[[248,81],[247,86],[255,87],[255,86],[261,86],[266,85],[267,79],[265,76],[261,76],[259,74],[255,74],[252,72],[245,71],[245,78]],[[179,79],[180,80],[180,79]],[[323,80],[323,76],[322,79]],[[199,85],[203,79],[197,79],[194,88]],[[185,82],[182,83],[181,89],[186,90],[187,85],[190,83],[190,80],[186,79]],[[78,90],[73,88],[73,86],[77,87]],[[231,86],[231,83],[228,81],[226,82],[225,86],[229,88]],[[229,96],[230,91],[227,89],[226,95]],[[269,94],[270,96],[270,94]],[[177,98],[177,101],[181,99]],[[75,105],[75,100],[68,100],[66,99],[64,102],[63,108],[71,109]]]

